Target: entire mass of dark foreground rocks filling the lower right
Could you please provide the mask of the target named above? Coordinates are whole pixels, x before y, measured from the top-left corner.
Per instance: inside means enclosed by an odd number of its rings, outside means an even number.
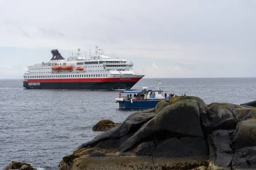
[[[255,106],[174,97],[82,144],[59,169],[256,169]]]

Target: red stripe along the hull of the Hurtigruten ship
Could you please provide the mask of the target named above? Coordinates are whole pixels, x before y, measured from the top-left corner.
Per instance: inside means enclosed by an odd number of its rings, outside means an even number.
[[[79,79],[25,79],[24,82],[138,82],[142,77],[132,78],[79,78]]]

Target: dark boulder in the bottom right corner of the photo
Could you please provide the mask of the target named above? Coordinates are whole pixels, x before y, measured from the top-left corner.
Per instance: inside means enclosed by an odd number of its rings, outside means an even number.
[[[256,169],[256,147],[244,147],[235,151],[233,170]]]

